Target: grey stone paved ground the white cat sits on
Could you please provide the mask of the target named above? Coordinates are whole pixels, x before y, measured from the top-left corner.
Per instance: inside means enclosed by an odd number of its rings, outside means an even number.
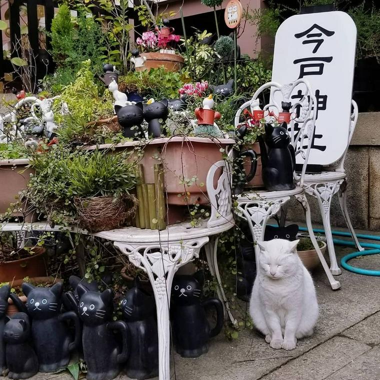
[[[339,247],[339,257],[353,251]],[[352,260],[379,269],[380,255]],[[321,270],[313,273],[320,308],[314,335],[292,351],[273,350],[256,332],[228,341],[223,334],[196,359],[173,355],[176,380],[376,380],[380,379],[380,278],[343,270],[341,289],[332,291]],[[35,379],[68,380],[67,374]],[[119,376],[119,380],[128,377]]]

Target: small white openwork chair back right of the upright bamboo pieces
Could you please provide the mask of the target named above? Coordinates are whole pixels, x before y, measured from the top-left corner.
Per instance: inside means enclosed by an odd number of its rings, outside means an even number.
[[[207,221],[207,227],[233,220],[231,185],[230,163],[224,160],[215,162],[208,170],[206,178],[207,194],[211,205],[211,216]]]

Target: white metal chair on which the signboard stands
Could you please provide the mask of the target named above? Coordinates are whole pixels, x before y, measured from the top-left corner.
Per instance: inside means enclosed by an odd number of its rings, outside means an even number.
[[[344,158],[348,150],[349,142],[351,141],[353,131],[355,129],[358,111],[357,105],[354,100],[352,100],[352,113],[349,122],[349,133],[347,146],[344,150],[343,155],[339,160],[334,162],[329,166],[323,167],[320,173],[315,174],[305,174],[303,178],[303,189],[304,191],[317,199],[320,214],[322,216],[324,233],[326,236],[326,243],[328,247],[328,255],[330,258],[330,270],[332,274],[341,274],[341,270],[336,262],[336,255],[334,249],[334,243],[331,234],[331,224],[330,224],[330,206],[332,196],[338,193],[340,208],[342,210],[344,220],[347,227],[355,241],[356,247],[359,250],[364,250],[357,240],[355,231],[352,227],[351,221],[349,219],[349,214],[347,210],[347,196],[346,196],[346,173],[344,171]],[[333,141],[331,141],[333,143]]]

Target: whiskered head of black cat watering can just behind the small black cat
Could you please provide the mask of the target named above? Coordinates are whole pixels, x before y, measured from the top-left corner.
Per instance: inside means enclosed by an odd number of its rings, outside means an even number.
[[[60,312],[62,305],[62,284],[60,282],[51,287],[34,287],[23,282],[22,291],[26,295],[26,307],[33,319],[47,319]]]

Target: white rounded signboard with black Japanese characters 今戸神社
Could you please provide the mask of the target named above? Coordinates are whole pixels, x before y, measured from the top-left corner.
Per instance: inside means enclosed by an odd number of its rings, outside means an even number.
[[[287,18],[277,30],[272,80],[285,84],[303,78],[317,100],[309,164],[327,165],[344,153],[355,47],[356,26],[340,11],[298,14]],[[299,154],[298,159],[301,162]]]

